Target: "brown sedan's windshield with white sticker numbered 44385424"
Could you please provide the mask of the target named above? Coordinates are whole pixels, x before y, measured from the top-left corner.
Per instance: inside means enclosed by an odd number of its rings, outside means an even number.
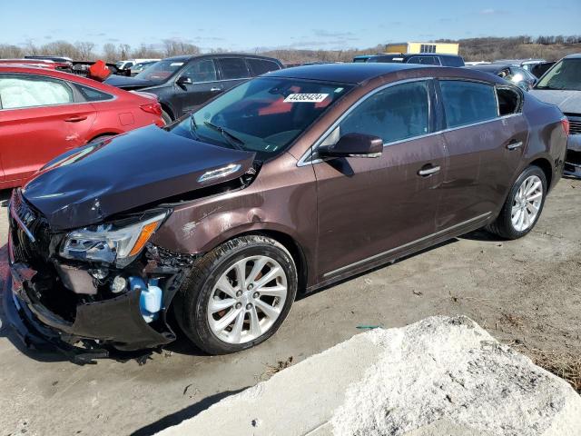
[[[264,160],[286,149],[351,87],[260,77],[206,104],[173,126],[172,133],[256,152]]]

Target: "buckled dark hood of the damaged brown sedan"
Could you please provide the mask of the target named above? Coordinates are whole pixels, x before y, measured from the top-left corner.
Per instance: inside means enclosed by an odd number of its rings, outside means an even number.
[[[251,168],[254,156],[152,125],[57,157],[25,184],[23,194],[59,231],[233,180]],[[224,167],[226,175],[200,181]]]

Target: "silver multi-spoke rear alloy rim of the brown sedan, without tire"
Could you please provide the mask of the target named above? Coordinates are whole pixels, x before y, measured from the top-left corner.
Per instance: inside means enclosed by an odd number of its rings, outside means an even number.
[[[543,183],[537,175],[530,175],[519,186],[512,203],[510,217],[517,232],[525,232],[533,226],[542,202]]]

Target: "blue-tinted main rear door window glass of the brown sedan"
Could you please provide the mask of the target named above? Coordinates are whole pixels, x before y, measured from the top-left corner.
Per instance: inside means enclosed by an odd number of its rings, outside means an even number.
[[[493,86],[461,80],[442,80],[439,86],[448,128],[497,117],[497,98]]]

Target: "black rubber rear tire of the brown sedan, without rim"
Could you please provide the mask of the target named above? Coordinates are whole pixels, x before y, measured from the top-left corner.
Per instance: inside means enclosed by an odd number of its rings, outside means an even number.
[[[515,228],[514,224],[512,223],[511,215],[512,208],[513,204],[515,203],[515,197],[517,195],[518,189],[520,188],[520,185],[531,175],[536,175],[541,180],[541,183],[543,185],[541,203],[537,216],[535,217],[531,225],[523,231],[518,231]],[[513,183],[512,187],[510,188],[510,192],[507,195],[507,200],[503,204],[502,210],[498,214],[497,219],[493,223],[487,225],[486,227],[487,232],[494,233],[497,236],[500,236],[501,238],[507,240],[522,238],[531,230],[533,230],[533,228],[535,228],[538,218],[541,216],[541,213],[543,212],[543,206],[545,205],[546,198],[547,198],[547,176],[545,175],[543,170],[541,170],[536,165],[531,165],[527,167],[527,169],[525,169],[525,171],[523,171],[518,176],[517,180],[515,181],[515,183]]]

